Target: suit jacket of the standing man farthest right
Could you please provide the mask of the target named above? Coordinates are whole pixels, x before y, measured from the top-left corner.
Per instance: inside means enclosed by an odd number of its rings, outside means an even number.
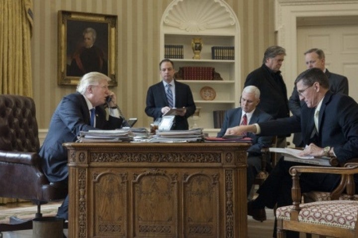
[[[342,92],[348,95],[348,79],[345,76],[337,75],[329,72],[326,69],[325,75],[327,76],[330,83],[330,90],[333,93]],[[296,85],[293,87],[292,94],[288,99],[288,107],[293,115],[299,115],[301,113],[301,106],[305,104],[303,101],[300,101]],[[295,133],[293,136],[293,143],[296,146],[304,146],[302,143],[302,136],[300,133]]]

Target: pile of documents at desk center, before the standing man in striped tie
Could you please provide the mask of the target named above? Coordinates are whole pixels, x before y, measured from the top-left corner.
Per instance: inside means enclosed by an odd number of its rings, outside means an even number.
[[[202,128],[174,131],[157,130],[156,135],[149,142],[184,143],[203,141],[204,134],[202,130]]]

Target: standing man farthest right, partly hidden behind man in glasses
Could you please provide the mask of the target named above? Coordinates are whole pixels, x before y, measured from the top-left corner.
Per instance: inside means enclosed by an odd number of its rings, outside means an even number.
[[[325,67],[325,54],[323,50],[312,48],[304,53],[305,62],[307,69],[318,68],[322,70],[328,78],[330,84],[330,90],[333,93],[342,92],[348,95],[348,79],[345,76],[334,74],[329,72]],[[297,93],[296,86],[293,87],[292,95],[288,99],[288,106],[293,115],[300,115],[301,106],[304,104],[303,101],[300,101],[299,95]],[[302,141],[301,133],[294,133],[293,135],[293,144],[296,147],[304,147]]]

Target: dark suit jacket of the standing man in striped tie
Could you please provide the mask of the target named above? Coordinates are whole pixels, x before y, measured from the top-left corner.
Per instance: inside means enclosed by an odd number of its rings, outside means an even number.
[[[175,117],[172,130],[187,130],[189,129],[187,118],[194,114],[196,110],[190,87],[175,80],[175,97],[175,106],[177,108],[185,107],[186,113],[185,116]],[[163,116],[162,108],[169,106],[163,81],[148,88],[146,104],[145,113],[148,116],[153,117],[154,120]]]

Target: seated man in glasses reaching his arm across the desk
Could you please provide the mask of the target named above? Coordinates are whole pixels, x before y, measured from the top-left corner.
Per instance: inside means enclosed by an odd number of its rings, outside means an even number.
[[[358,104],[340,92],[329,90],[327,76],[321,69],[311,68],[295,80],[297,93],[305,104],[300,115],[271,120],[254,125],[237,126],[226,131],[228,135],[252,132],[262,136],[286,135],[302,132],[304,145],[302,156],[335,156],[340,164],[358,157]],[[259,196],[248,203],[248,215],[266,220],[265,207],[274,208],[292,205],[292,177],[288,170],[293,165],[302,165],[280,159],[260,186]],[[331,192],[340,182],[339,174],[304,173],[300,176],[301,192]],[[356,187],[358,182],[355,181]],[[273,233],[276,237],[276,233]],[[287,237],[298,238],[296,232]]]

